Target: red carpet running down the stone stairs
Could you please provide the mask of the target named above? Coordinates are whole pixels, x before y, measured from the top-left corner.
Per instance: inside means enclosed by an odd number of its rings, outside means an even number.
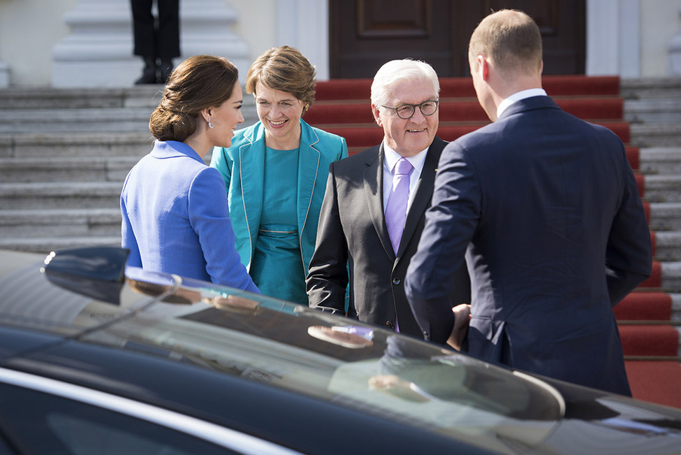
[[[350,154],[379,144],[383,130],[370,108],[370,79],[318,82],[315,103],[305,121],[346,138]],[[557,104],[589,122],[603,124],[627,145],[627,159],[645,201],[645,175],[640,173],[638,147],[629,145],[629,123],[623,120],[624,101],[616,76],[547,75],[543,88]],[[470,78],[441,78],[438,136],[455,140],[489,122],[478,105]],[[655,233],[650,232],[653,247]],[[654,261],[652,276],[615,307],[620,326],[627,375],[634,398],[681,407],[679,332],[671,321],[672,298],[662,289],[661,263]]]

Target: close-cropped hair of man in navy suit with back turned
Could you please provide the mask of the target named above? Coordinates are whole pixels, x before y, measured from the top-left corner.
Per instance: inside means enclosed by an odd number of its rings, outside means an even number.
[[[532,17],[519,10],[499,10],[485,17],[471,35],[468,56],[485,55],[501,73],[541,71],[541,34]]]

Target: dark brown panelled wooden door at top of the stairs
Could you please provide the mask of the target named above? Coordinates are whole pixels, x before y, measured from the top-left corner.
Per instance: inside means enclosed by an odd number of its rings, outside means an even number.
[[[539,25],[544,74],[585,71],[585,0],[330,0],[331,78],[372,78],[391,59],[470,75],[468,41],[492,10],[517,8]]]

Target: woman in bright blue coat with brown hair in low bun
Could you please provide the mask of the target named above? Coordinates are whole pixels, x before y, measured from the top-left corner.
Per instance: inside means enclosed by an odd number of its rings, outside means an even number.
[[[198,55],[170,75],[149,120],[154,149],[121,194],[128,265],[258,292],[234,247],[224,182],[203,157],[229,147],[241,113],[237,68]]]

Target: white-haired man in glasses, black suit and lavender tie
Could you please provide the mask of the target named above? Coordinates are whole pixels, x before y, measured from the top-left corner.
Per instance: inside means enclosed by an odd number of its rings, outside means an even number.
[[[446,145],[435,136],[439,80],[425,62],[393,60],[376,72],[371,96],[384,138],[330,166],[307,275],[309,305],[422,337],[403,282]],[[403,165],[407,171],[397,175]],[[455,280],[457,294],[448,301],[468,303],[464,267]]]

